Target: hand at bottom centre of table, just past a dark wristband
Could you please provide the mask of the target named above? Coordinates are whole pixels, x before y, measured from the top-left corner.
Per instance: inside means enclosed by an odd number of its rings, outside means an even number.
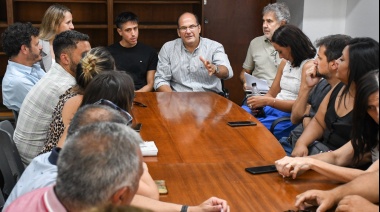
[[[211,197],[198,206],[191,206],[188,208],[189,212],[192,211],[217,211],[217,212],[229,212],[230,206],[226,200],[219,199],[217,197]]]

